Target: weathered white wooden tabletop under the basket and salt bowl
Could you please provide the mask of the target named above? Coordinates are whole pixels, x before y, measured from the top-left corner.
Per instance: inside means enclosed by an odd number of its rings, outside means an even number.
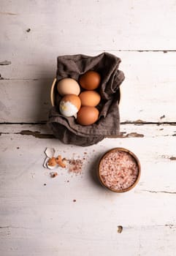
[[[176,239],[176,2],[1,0],[0,255],[172,256]],[[56,57],[122,60],[120,138],[64,145],[46,127]],[[117,195],[94,176],[120,146],[137,154],[137,187]],[[50,178],[45,148],[83,159]],[[119,233],[119,227],[123,230]]]

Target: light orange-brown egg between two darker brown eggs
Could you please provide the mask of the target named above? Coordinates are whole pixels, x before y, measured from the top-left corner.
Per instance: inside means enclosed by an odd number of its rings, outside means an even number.
[[[99,104],[101,97],[96,91],[83,91],[80,95],[82,106],[95,107]]]

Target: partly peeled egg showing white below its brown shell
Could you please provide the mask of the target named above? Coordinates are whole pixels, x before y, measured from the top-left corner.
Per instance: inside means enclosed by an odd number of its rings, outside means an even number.
[[[75,94],[65,95],[59,104],[59,110],[63,116],[75,116],[80,110],[81,101]]]

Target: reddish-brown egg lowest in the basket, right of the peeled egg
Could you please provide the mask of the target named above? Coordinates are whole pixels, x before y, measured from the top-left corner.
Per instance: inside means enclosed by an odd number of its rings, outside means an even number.
[[[83,106],[77,113],[77,123],[81,125],[94,124],[99,118],[99,110],[95,107]]]

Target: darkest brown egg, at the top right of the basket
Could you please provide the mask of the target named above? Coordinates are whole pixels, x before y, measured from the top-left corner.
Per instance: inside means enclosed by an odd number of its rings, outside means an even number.
[[[94,90],[99,87],[101,77],[96,71],[87,71],[83,75],[80,75],[79,83],[83,89]]]

